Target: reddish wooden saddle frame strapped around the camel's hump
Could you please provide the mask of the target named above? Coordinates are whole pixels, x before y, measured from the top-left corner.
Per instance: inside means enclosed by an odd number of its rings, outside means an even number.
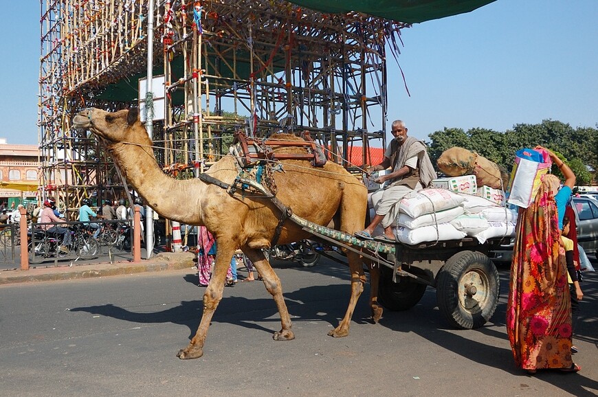
[[[243,131],[235,133],[232,154],[243,168],[256,166],[263,161],[307,160],[313,166],[323,167],[326,156],[323,148],[316,144],[307,131],[298,137],[294,134],[276,134],[269,139],[254,139]]]

